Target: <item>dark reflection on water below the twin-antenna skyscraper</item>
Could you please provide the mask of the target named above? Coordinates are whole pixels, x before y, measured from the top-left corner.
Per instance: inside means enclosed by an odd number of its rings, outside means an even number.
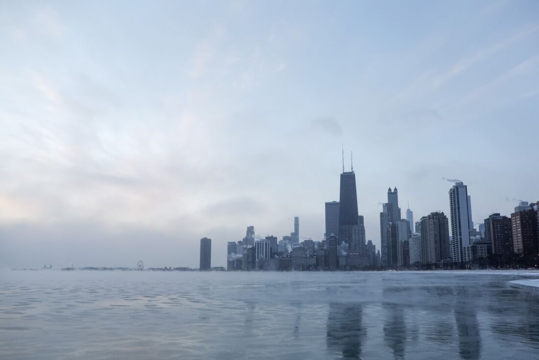
[[[363,325],[361,303],[330,303],[326,342],[330,352],[344,359],[358,359],[367,330]]]

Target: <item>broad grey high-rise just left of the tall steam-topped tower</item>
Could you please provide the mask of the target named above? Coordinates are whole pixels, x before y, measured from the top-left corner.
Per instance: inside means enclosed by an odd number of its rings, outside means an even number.
[[[426,262],[451,259],[449,246],[449,220],[443,212],[431,212],[427,218]]]

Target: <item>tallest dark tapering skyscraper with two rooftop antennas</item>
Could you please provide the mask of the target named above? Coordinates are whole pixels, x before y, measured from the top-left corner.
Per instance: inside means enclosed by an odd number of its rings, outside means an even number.
[[[357,215],[357,192],[356,192],[356,175],[352,167],[349,172],[344,171],[341,174],[341,190],[339,198],[339,213],[338,213],[338,241],[352,246],[358,241],[358,215]]]

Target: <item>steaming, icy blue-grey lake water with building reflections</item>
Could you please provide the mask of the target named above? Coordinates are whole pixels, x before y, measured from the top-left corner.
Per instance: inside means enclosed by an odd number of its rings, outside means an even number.
[[[0,358],[539,358],[519,278],[3,271]]]

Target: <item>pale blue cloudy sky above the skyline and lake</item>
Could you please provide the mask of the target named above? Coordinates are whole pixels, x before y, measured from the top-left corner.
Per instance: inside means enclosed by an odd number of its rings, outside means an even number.
[[[539,200],[537,1],[0,0],[0,267],[212,266],[321,240],[353,151],[403,216]]]

